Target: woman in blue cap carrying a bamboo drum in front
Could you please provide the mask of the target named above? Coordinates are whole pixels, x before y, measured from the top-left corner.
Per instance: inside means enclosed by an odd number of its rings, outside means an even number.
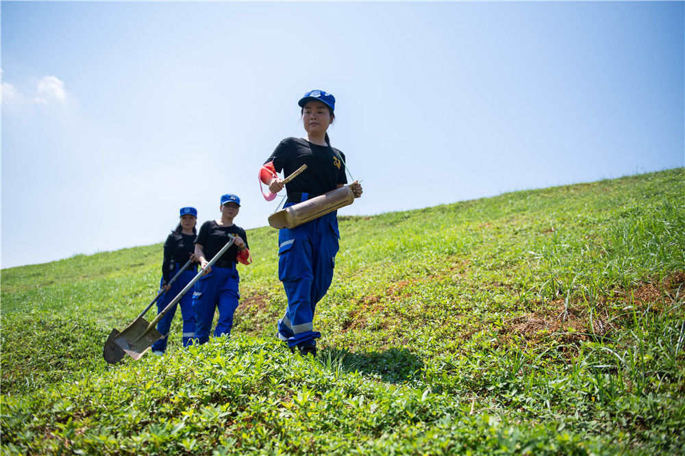
[[[323,90],[304,94],[297,103],[307,138],[282,140],[260,170],[260,179],[272,193],[284,187],[284,176],[306,164],[307,169],[286,185],[288,199],[284,207],[325,194],[347,183],[345,155],[331,147],[327,129],[333,123],[336,99]],[[362,186],[352,187],[356,198],[362,196]],[[330,212],[292,229],[278,233],[278,278],[288,296],[286,313],[278,320],[278,337],[295,347],[302,355],[316,355],[314,331],[316,303],[328,291],[333,280],[333,268],[338,253],[338,218]]]

